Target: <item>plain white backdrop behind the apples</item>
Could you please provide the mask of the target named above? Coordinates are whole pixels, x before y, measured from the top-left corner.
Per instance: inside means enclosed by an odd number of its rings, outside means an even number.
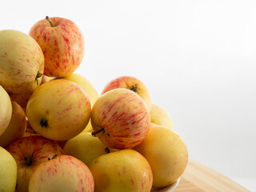
[[[1,1],[0,30],[69,18],[86,52],[76,73],[100,94],[140,79],[173,118],[190,158],[256,191],[256,2]]]

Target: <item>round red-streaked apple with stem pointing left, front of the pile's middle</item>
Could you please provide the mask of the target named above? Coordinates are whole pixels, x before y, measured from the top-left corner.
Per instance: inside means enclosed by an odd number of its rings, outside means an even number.
[[[91,123],[96,136],[114,149],[137,146],[150,130],[150,111],[134,91],[119,88],[102,94],[94,103]],[[93,133],[94,133],[93,132]]]

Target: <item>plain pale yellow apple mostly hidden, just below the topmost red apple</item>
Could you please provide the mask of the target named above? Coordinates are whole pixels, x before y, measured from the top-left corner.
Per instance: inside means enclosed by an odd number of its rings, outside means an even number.
[[[90,99],[90,106],[94,106],[94,102],[96,102],[96,100],[98,99],[98,92],[89,80],[84,78],[81,74],[70,74],[62,78],[75,82],[78,84],[78,86],[81,86],[82,89],[86,91],[86,94]],[[92,130],[93,127],[91,126],[91,123],[89,121],[83,131],[91,132]]]

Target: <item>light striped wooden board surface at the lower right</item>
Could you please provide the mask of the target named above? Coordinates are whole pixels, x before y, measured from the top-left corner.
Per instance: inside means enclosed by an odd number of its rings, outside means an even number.
[[[210,168],[189,161],[174,192],[250,192]]]

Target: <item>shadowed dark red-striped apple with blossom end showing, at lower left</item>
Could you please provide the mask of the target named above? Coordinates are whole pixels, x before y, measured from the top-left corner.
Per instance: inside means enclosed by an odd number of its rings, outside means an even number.
[[[6,150],[14,157],[18,167],[16,192],[28,191],[31,174],[42,162],[64,154],[56,142],[40,135],[18,138]]]

